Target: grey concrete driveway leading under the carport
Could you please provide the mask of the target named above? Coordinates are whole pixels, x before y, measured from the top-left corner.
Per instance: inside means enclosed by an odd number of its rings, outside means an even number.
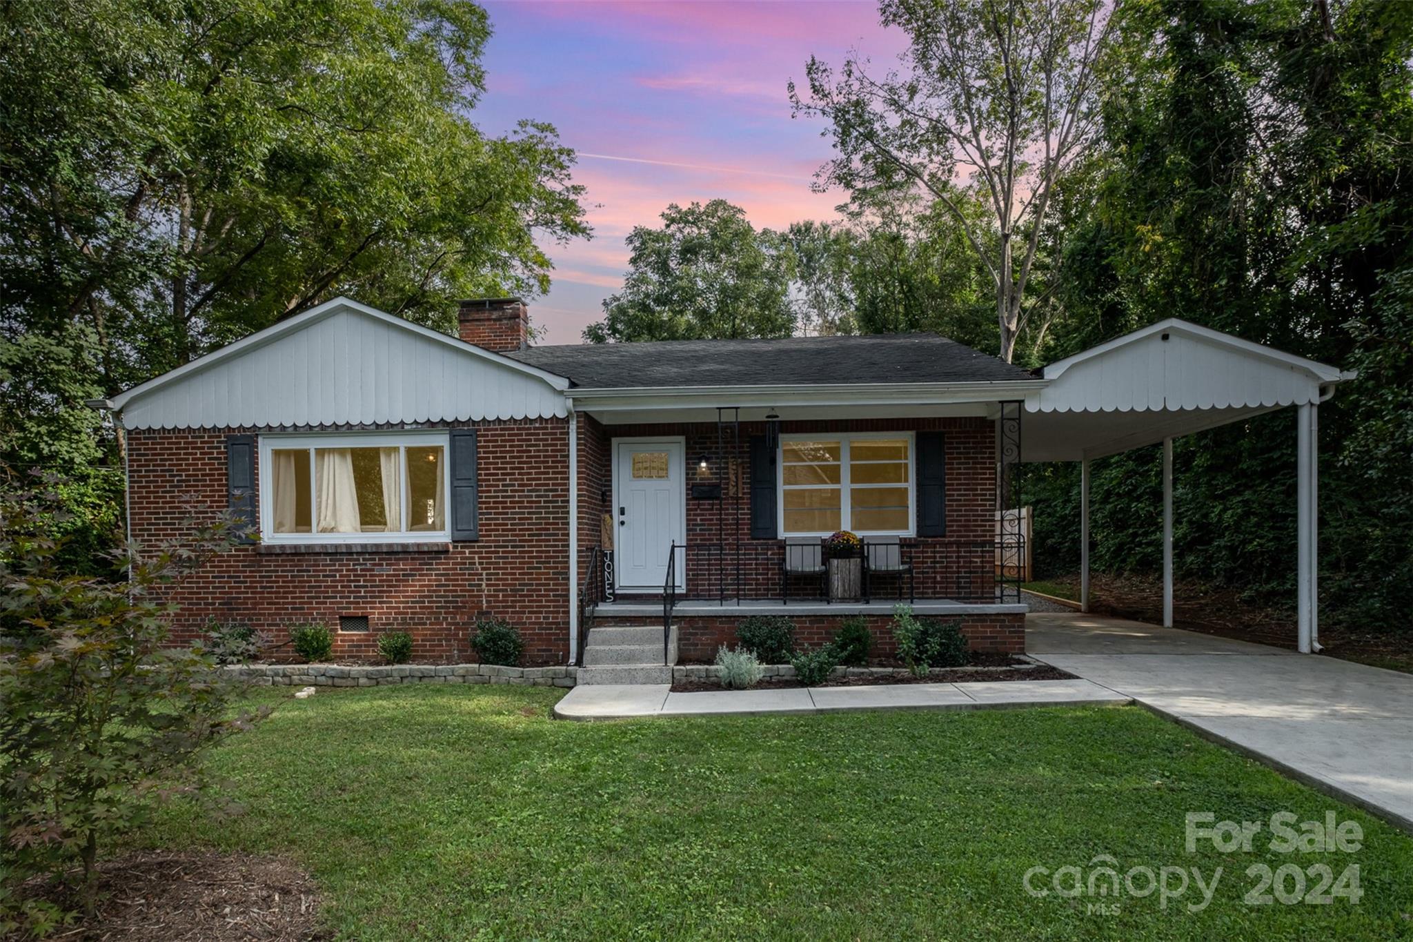
[[[1080,613],[1026,652],[1413,830],[1413,675]]]

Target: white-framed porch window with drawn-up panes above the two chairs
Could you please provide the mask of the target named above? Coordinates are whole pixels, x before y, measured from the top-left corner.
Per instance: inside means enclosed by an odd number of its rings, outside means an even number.
[[[781,435],[781,537],[913,535],[911,432]]]

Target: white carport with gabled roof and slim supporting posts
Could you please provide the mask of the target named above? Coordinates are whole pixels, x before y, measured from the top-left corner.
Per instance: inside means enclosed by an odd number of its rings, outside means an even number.
[[[1080,604],[1089,610],[1089,462],[1163,443],[1163,626],[1173,626],[1173,439],[1296,407],[1299,647],[1320,650],[1318,408],[1352,373],[1177,318],[1044,367],[1024,400],[1024,462],[1080,462]],[[1282,473],[1284,469],[1272,469]]]

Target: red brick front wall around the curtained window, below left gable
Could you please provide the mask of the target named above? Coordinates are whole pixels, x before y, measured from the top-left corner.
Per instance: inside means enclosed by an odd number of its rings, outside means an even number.
[[[288,640],[292,624],[369,616],[366,634],[335,631],[335,657],[376,657],[377,633],[408,631],[418,661],[466,661],[479,616],[520,628],[526,664],[564,664],[568,634],[568,422],[463,424],[478,435],[480,539],[356,552],[239,547],[177,592],[178,637],[208,619],[244,621]],[[181,538],[226,506],[226,435],[260,429],[129,434],[133,537]],[[332,431],[332,429],[331,429]],[[292,652],[290,654],[292,657]]]

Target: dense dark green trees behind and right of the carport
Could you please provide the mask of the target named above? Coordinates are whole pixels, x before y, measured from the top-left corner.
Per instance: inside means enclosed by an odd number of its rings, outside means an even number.
[[[1321,407],[1325,623],[1390,624],[1413,592],[1413,20],[1402,4],[1159,0],[1126,18],[1094,210],[1070,233],[1054,356],[1166,316],[1359,370]],[[1290,603],[1287,411],[1178,442],[1180,572]],[[1156,452],[1095,469],[1095,562],[1152,569]],[[1037,559],[1074,561],[1075,467],[1033,476]],[[1053,521],[1053,523],[1051,523]],[[1136,524],[1136,527],[1135,527]],[[1119,549],[1126,545],[1126,554]]]

